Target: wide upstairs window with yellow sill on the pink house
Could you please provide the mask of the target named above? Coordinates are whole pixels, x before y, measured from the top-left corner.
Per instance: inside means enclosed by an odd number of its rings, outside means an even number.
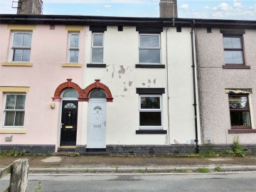
[[[28,62],[31,56],[32,33],[12,33],[11,61]]]

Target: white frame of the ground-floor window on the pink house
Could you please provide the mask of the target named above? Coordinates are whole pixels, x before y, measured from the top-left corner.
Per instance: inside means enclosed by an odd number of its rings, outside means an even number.
[[[5,117],[6,117],[6,112],[25,112],[26,110],[25,110],[25,108],[26,108],[26,97],[25,97],[25,107],[24,107],[24,109],[23,110],[16,110],[16,109],[6,109],[6,98],[7,98],[7,95],[25,95],[26,96],[26,94],[24,94],[24,93],[11,93],[11,92],[9,92],[9,93],[6,93],[5,95],[4,95],[4,107],[3,107],[3,109],[4,109],[4,111],[3,111],[3,113],[2,113],[2,127],[3,128],[23,128],[24,127],[24,122],[25,122],[25,115],[24,115],[24,119],[23,119],[23,125],[21,126],[15,126],[15,125],[12,125],[12,126],[6,126],[6,125],[4,125],[4,123],[5,123]],[[15,119],[15,117],[14,117],[14,119]]]

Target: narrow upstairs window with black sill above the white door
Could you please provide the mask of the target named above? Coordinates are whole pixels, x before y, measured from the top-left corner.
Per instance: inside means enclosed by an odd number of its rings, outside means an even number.
[[[103,33],[92,33],[92,63],[103,63]]]

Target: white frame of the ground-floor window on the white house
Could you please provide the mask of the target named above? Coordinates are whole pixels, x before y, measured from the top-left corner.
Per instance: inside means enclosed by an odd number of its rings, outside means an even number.
[[[141,108],[141,97],[159,97],[160,98],[160,108],[159,109],[142,109]],[[139,129],[163,129],[162,95],[139,94],[139,112],[161,112],[161,126],[141,126],[141,125],[139,125]],[[140,118],[140,116],[139,116],[139,118]]]

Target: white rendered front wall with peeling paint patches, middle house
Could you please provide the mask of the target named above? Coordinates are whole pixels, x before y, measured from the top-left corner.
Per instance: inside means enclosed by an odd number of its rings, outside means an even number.
[[[189,29],[168,31],[170,141],[167,134],[135,134],[139,129],[139,87],[163,87],[163,127],[169,132],[166,70],[135,68],[139,64],[139,33],[135,27],[108,26],[104,33],[104,61],[107,68],[85,68],[84,87],[100,79],[114,97],[107,102],[107,144],[181,144],[195,139],[193,115],[193,78]],[[92,31],[86,31],[86,63],[91,63]],[[161,64],[166,65],[166,31],[161,33]],[[87,143],[87,110],[82,109],[82,144]],[[86,115],[85,115],[86,114]]]

